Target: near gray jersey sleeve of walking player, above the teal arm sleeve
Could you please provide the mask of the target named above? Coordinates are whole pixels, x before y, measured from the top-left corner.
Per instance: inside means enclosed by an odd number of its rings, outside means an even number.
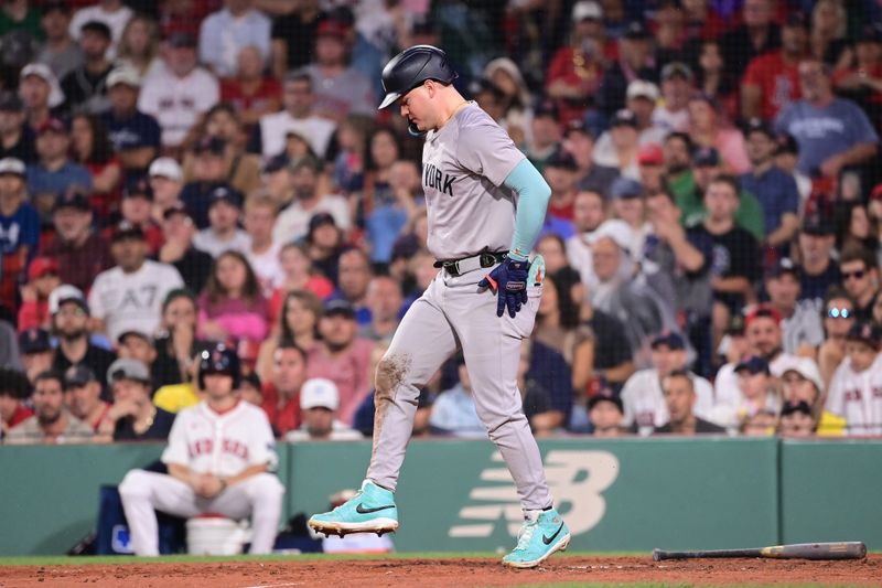
[[[525,159],[502,127],[487,119],[469,121],[460,128],[456,160],[466,170],[484,175],[493,185],[503,185],[512,170]]]

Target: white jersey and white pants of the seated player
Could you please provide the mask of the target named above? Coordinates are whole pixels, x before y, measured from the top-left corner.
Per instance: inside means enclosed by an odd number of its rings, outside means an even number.
[[[229,478],[252,466],[276,467],[276,441],[266,414],[239,402],[217,414],[205,402],[185,408],[174,420],[166,464],[181,464],[194,473]],[[272,550],[281,516],[284,488],[271,473],[258,473],[233,483],[212,499],[197,495],[183,481],[163,473],[132,470],[119,485],[132,548],[137,555],[159,555],[154,510],[179,516],[219,513],[230,518],[251,516],[252,554]]]

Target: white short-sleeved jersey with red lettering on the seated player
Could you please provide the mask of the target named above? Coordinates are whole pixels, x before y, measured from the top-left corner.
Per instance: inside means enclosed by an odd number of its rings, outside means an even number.
[[[272,470],[279,457],[267,414],[239,402],[218,415],[203,400],[184,408],[174,419],[163,463],[186,466],[195,473],[229,478],[251,466]]]

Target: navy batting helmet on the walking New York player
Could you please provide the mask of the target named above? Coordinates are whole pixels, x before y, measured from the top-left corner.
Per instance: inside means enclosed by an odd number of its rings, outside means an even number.
[[[450,84],[459,77],[447,54],[432,45],[413,45],[392,57],[383,68],[383,89],[386,97],[383,110],[427,79]]]

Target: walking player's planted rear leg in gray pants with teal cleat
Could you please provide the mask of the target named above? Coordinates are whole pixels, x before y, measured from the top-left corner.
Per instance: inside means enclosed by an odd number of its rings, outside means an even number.
[[[567,525],[553,509],[539,447],[517,388],[521,340],[533,331],[541,290],[533,287],[529,295],[514,319],[507,313],[496,317],[496,298],[488,292],[464,291],[452,297],[448,307],[460,335],[477,415],[512,473],[524,509],[518,545],[503,559],[513,567],[535,567],[566,549],[570,541]]]

